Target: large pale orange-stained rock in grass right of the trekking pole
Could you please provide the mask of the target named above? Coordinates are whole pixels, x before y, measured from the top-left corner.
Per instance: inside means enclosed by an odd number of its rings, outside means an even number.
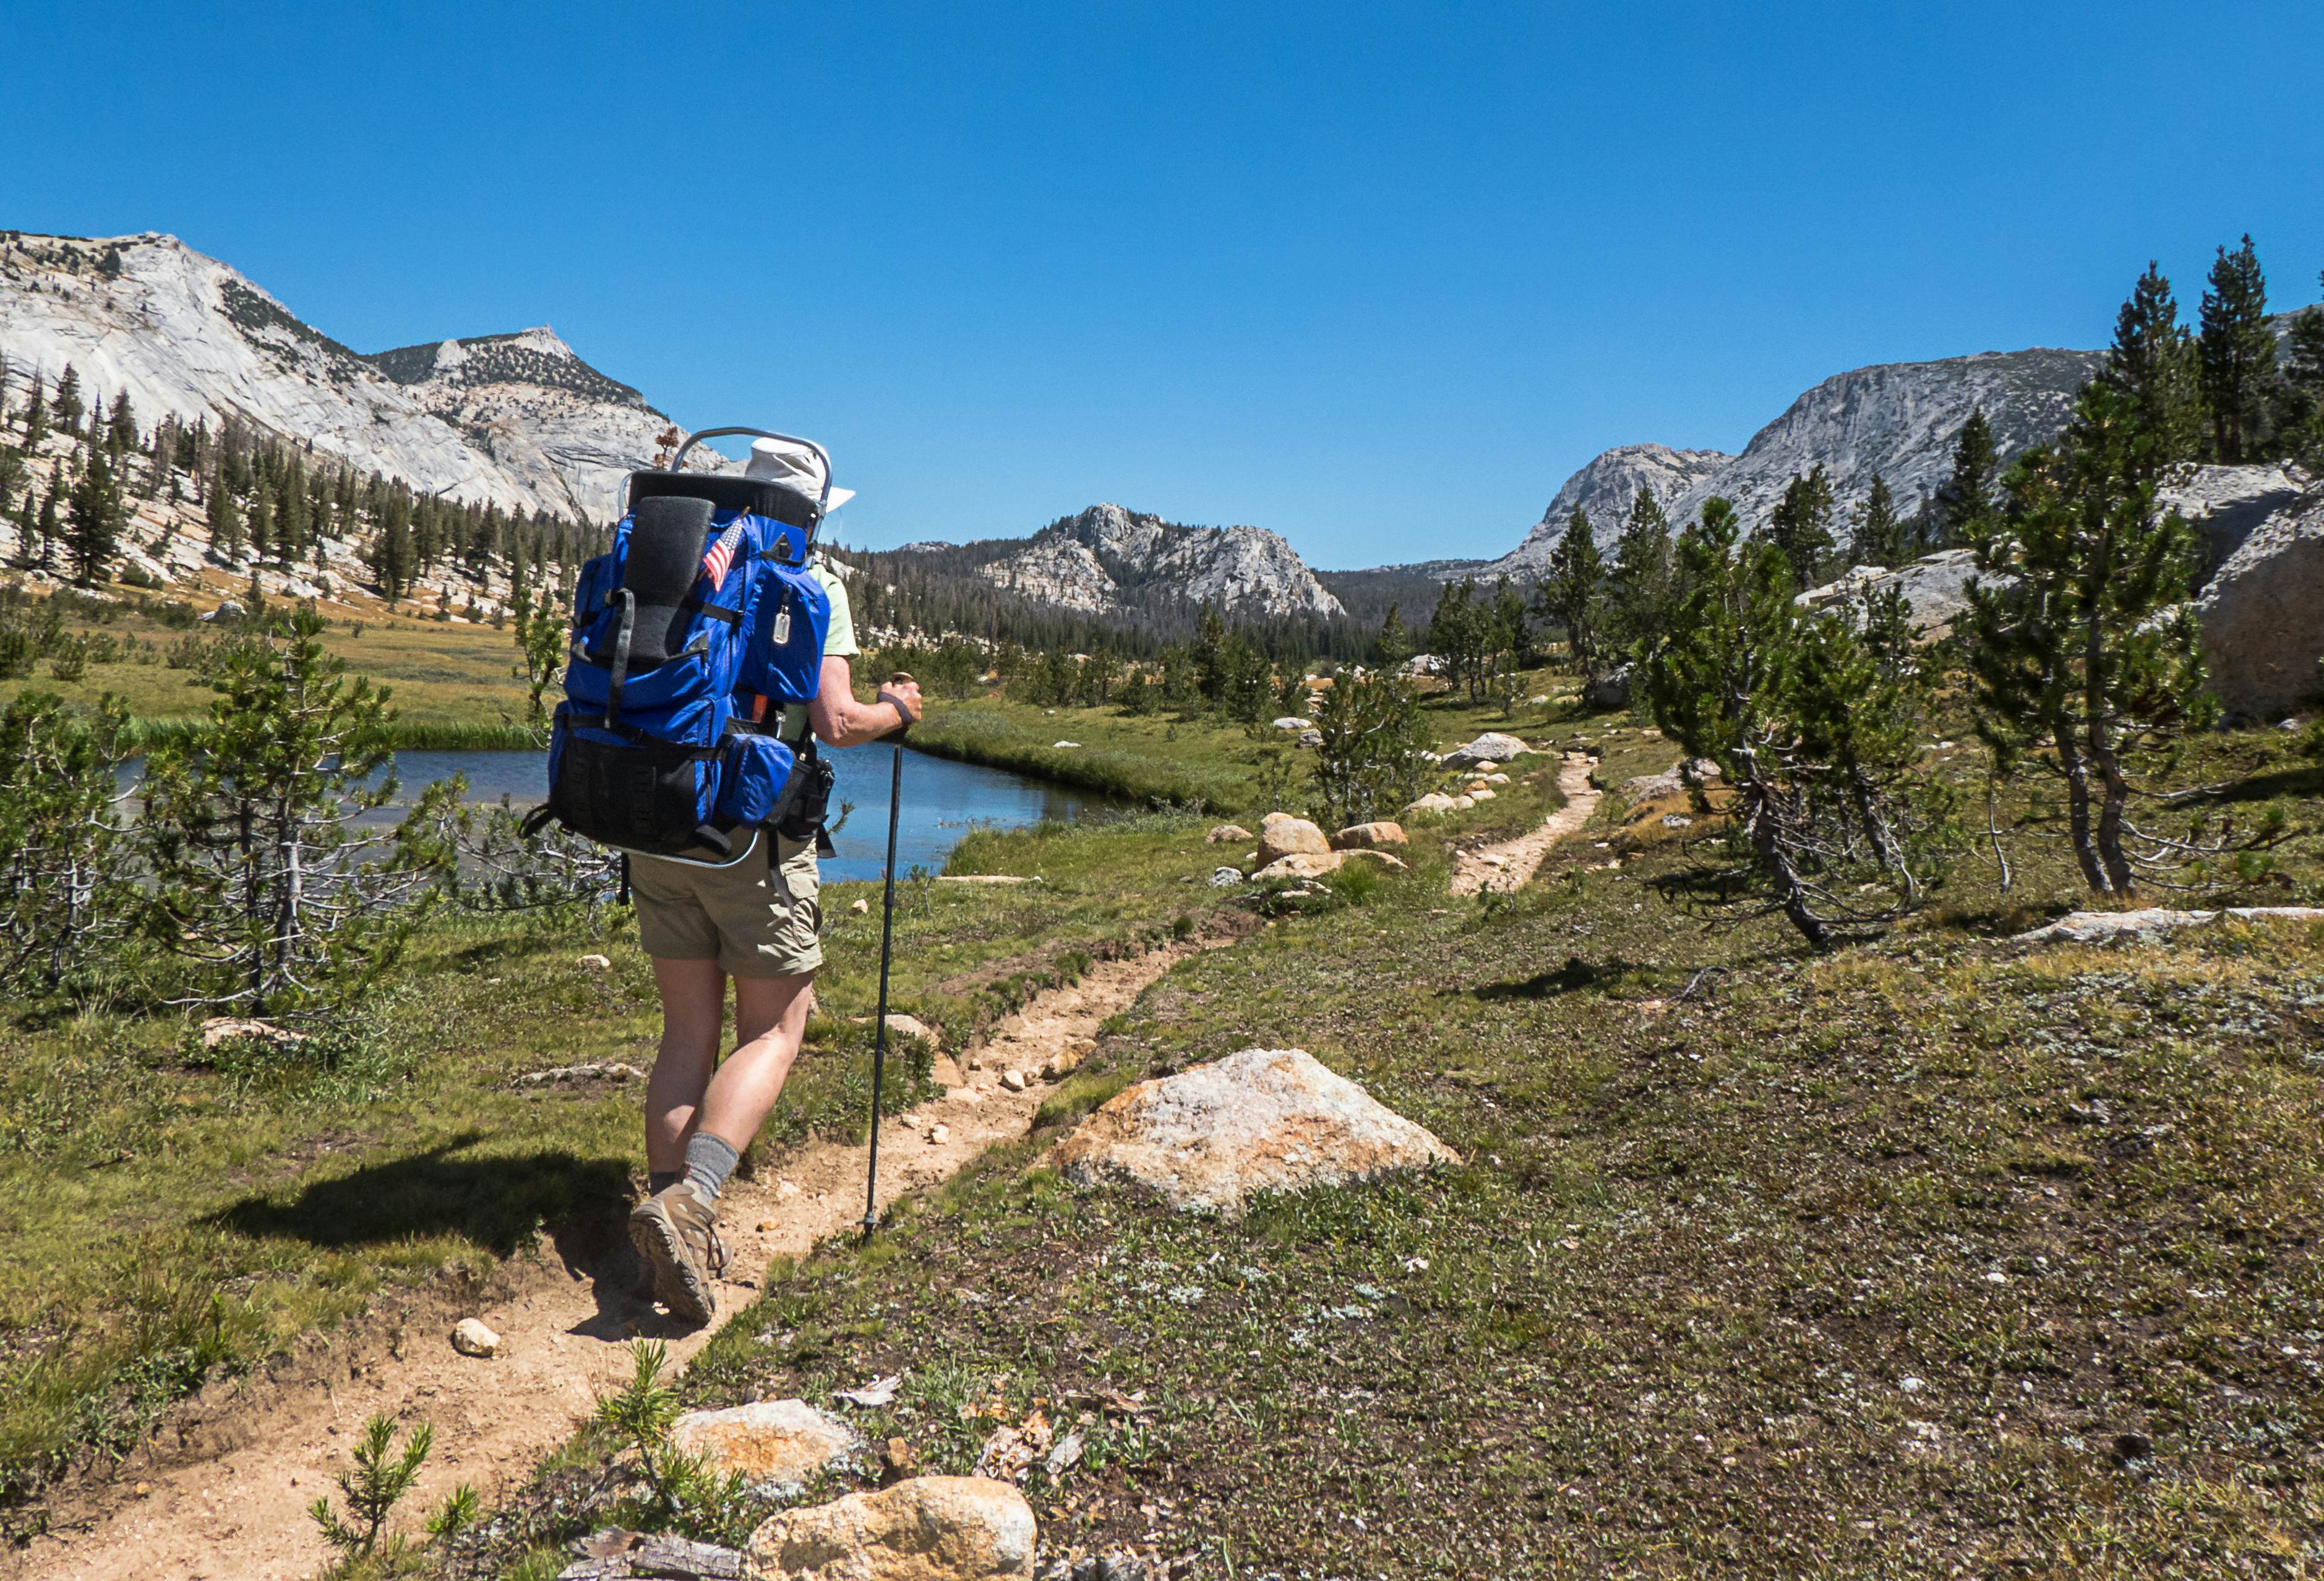
[[[1450,1161],[1450,1147],[1301,1049],[1243,1049],[1139,1082],[1055,1152],[1067,1179],[1125,1179],[1171,1207],[1229,1219],[1257,1191],[1348,1186]]]

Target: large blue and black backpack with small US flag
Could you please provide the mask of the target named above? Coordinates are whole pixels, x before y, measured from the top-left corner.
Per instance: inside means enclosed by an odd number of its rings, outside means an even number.
[[[762,513],[776,494],[730,476],[632,476],[614,548],[574,587],[548,803],[530,826],[555,817],[602,845],[723,864],[751,847],[737,831],[781,822],[827,773],[804,703],[832,606],[806,571],[813,518]]]

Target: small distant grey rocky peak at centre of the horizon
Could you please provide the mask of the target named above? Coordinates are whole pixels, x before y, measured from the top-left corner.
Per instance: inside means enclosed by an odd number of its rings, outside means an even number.
[[[1292,546],[1260,527],[1178,527],[1097,504],[1030,541],[971,548],[990,550],[976,569],[985,580],[1092,615],[1171,604],[1236,615],[1346,613]]]

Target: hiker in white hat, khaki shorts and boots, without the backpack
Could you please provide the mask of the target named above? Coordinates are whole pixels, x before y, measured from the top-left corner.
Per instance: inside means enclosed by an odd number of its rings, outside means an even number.
[[[788,481],[809,467],[804,453],[760,439],[746,476]],[[832,506],[848,497],[830,494]],[[883,685],[876,703],[855,701],[848,662],[860,648],[846,583],[820,553],[809,573],[832,606],[820,683],[806,703],[816,738],[851,748],[918,722],[920,687],[911,680]],[[630,1212],[630,1240],[651,1263],[662,1305],[695,1323],[711,1319],[713,1279],[725,1268],[718,1193],[783,1091],[823,966],[816,833],[792,840],[760,826],[737,829],[737,840],[744,833],[753,847],[732,866],[630,859],[637,938],[662,996],[662,1047],[646,1082],[646,1200]],[[737,1042],[720,1063],[727,977]]]

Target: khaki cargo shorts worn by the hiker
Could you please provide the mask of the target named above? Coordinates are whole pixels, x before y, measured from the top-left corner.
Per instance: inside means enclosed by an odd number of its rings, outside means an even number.
[[[630,857],[637,943],[646,954],[718,961],[730,977],[799,977],[823,966],[820,887],[816,843],[769,829],[727,868]]]

